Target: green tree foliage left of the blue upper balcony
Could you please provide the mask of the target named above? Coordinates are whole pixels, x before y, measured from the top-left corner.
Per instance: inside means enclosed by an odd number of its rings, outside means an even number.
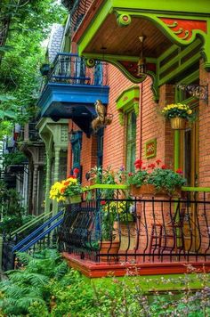
[[[44,62],[42,43],[52,23],[60,23],[65,15],[56,0],[1,1],[0,32],[1,20],[6,19],[10,28],[0,60],[0,139],[11,132],[10,125],[4,129],[6,118],[23,124],[36,115],[42,80],[39,66]]]

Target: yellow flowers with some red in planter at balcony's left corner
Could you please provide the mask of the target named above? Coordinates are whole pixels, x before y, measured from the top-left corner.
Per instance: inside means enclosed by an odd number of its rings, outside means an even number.
[[[74,169],[74,175],[69,178],[56,182],[52,185],[50,191],[50,199],[56,199],[58,202],[69,202],[70,204],[77,204],[81,202],[82,187],[77,179],[78,170]]]

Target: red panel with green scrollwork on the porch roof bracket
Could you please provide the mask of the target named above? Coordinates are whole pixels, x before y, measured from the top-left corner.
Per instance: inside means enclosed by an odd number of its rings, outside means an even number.
[[[192,31],[199,29],[207,33],[207,22],[206,20],[184,20],[184,19],[168,19],[168,18],[159,18],[162,20],[168,28],[173,32],[182,30],[180,34],[177,34],[177,37],[180,37],[184,40],[189,40],[192,36]],[[177,26],[172,27],[174,23],[177,23]],[[189,35],[186,37],[185,32],[189,31]]]

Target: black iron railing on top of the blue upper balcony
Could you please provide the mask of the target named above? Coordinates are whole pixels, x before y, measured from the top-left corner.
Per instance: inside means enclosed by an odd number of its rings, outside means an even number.
[[[58,53],[47,82],[70,85],[108,85],[108,65],[96,61],[93,68],[85,66],[85,59],[73,53]]]

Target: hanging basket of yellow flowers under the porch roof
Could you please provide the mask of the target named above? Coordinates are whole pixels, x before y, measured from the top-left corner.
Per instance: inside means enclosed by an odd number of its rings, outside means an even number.
[[[171,127],[175,130],[185,129],[187,121],[195,119],[189,105],[182,103],[172,103],[164,107],[161,111],[164,117],[171,122]]]

